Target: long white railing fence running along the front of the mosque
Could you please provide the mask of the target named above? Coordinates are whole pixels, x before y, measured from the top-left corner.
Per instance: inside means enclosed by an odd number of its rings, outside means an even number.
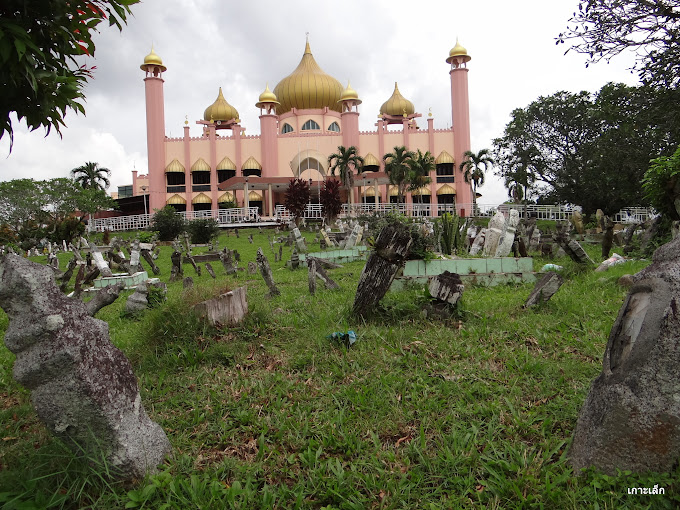
[[[472,216],[475,217],[491,217],[496,214],[496,211],[503,212],[510,211],[510,209],[517,209],[520,218],[536,217],[539,220],[567,220],[573,214],[574,208],[563,205],[518,205],[518,204],[458,204],[459,207],[466,211],[472,211]],[[343,204],[341,217],[348,216],[363,216],[372,214],[386,214],[386,213],[401,213],[412,217],[430,217],[433,216],[435,206],[432,204]],[[444,212],[456,211],[454,204],[438,204],[436,205],[436,215],[440,216]],[[235,224],[243,224],[260,221],[260,215],[257,207],[237,207],[233,209],[217,209],[211,211],[190,211],[178,213],[182,214],[187,220],[194,220],[199,218],[215,218],[221,227],[226,227]],[[614,215],[616,223],[639,223],[644,222],[649,218],[656,217],[657,214],[653,209],[644,207],[629,207],[622,209]],[[304,213],[305,219],[318,220],[323,217],[322,209],[319,204],[308,204]],[[149,226],[151,215],[137,214],[135,216],[114,216],[111,218],[100,218],[92,220],[89,223],[90,231],[103,232],[109,230],[110,232],[118,232],[122,230],[142,230]],[[282,205],[277,205],[274,211],[274,218],[279,222],[288,222],[291,218],[290,212]]]

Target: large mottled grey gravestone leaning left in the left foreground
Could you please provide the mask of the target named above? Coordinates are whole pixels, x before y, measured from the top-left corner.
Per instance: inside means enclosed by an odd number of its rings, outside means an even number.
[[[52,270],[15,255],[0,261],[0,306],[14,378],[38,417],[77,454],[104,456],[112,472],[141,479],[170,451],[147,416],[130,362],[105,322],[64,296]]]

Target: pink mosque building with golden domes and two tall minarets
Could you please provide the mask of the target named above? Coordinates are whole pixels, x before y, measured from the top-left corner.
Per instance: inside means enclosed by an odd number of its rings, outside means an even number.
[[[260,110],[260,134],[245,135],[239,113],[220,88],[197,124],[199,137],[165,134],[163,74],[166,66],[154,52],[140,66],[145,72],[148,175],[133,171],[134,195],[148,194],[150,211],[172,205],[180,211],[216,210],[221,206],[257,206],[263,216],[274,216],[293,177],[309,179],[312,197],[330,175],[328,156],[338,146],[354,146],[364,158],[349,200],[354,204],[396,201],[396,189],[384,173],[383,156],[395,146],[429,151],[436,171],[431,184],[406,195],[406,204],[430,204],[431,214],[455,208],[469,214],[472,189],[463,180],[459,162],[470,150],[467,62],[470,56],[458,41],[449,52],[451,129],[434,129],[432,114],[419,126],[421,113],[394,92],[380,108],[374,131],[359,130],[361,100],[350,84],[343,87],[316,63],[309,42],[297,68],[273,91],[267,86],[255,107]],[[375,115],[375,113],[371,114]],[[388,126],[396,125],[388,130]],[[142,190],[143,188],[143,190]],[[415,196],[412,196],[415,195]],[[365,205],[364,207],[370,207]]]

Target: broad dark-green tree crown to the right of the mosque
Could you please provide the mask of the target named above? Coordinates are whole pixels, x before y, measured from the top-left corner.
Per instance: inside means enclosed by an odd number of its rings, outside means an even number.
[[[680,144],[680,91],[607,84],[596,94],[557,92],[511,114],[494,140],[498,175],[539,200],[602,209],[646,205],[649,160]]]

